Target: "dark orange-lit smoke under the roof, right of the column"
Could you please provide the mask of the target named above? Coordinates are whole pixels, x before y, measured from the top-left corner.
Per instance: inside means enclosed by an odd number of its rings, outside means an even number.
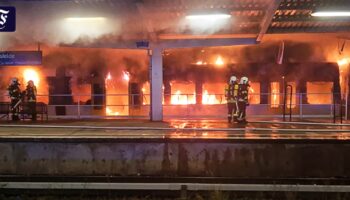
[[[193,81],[201,74],[205,81],[226,82],[231,73],[247,75],[254,79],[268,80],[271,77],[280,78],[281,74],[294,75],[292,71],[305,72],[307,63],[326,62],[324,50],[307,42],[284,41],[283,65],[277,65],[277,55],[280,41],[268,41],[259,45],[179,49],[166,51],[164,57],[165,76]],[[215,60],[221,56],[225,66],[215,66]],[[208,65],[196,65],[198,61]],[[288,63],[295,63],[288,67]],[[305,63],[304,65],[299,63]],[[215,70],[213,70],[213,68]],[[292,75],[293,74],[293,75]],[[298,74],[302,76],[301,74]],[[171,78],[170,78],[171,79]]]

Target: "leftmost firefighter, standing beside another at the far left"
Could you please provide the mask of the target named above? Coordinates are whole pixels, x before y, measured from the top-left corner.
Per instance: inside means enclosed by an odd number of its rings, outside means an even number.
[[[19,106],[22,102],[21,89],[19,88],[19,86],[20,83],[18,82],[18,79],[12,78],[9,87],[7,88],[9,96],[11,98],[10,109],[12,114],[12,121],[19,120]]]

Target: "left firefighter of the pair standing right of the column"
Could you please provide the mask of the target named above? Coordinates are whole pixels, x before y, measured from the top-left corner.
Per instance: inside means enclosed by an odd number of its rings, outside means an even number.
[[[231,76],[229,84],[225,88],[225,97],[227,100],[227,120],[228,123],[237,121],[237,95],[238,82],[236,76]]]

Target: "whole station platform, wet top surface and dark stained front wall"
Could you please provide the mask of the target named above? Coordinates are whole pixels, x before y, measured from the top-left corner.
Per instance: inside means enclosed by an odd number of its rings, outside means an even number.
[[[350,124],[49,120],[0,124],[0,175],[350,177]]]

